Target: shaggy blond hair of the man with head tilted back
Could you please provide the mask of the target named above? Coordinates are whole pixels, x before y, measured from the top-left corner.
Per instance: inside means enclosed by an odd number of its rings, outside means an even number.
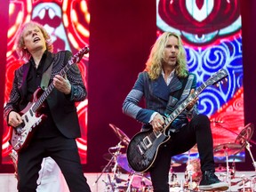
[[[16,52],[19,55],[20,59],[23,60],[29,60],[31,57],[30,52],[28,52],[28,49],[24,49],[24,29],[27,28],[28,26],[36,26],[39,28],[44,36],[45,39],[45,44],[46,44],[46,49],[48,52],[53,52],[53,44],[52,44],[52,39],[51,36],[48,34],[48,32],[45,30],[45,28],[35,22],[35,21],[28,21],[27,23],[23,24],[23,26],[20,28],[20,31],[18,32],[18,36],[16,37],[15,45],[16,45]]]

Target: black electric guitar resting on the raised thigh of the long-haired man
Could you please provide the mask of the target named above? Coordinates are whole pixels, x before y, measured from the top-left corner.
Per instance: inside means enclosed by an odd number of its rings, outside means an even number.
[[[167,134],[170,125],[174,119],[188,107],[189,102],[196,99],[207,86],[218,83],[226,76],[228,76],[228,72],[225,69],[220,69],[220,71],[211,76],[204,84],[201,84],[201,86],[196,89],[196,92],[190,94],[171,115],[164,118],[164,128],[162,131],[153,132],[150,130],[138,132],[132,137],[126,155],[129,165],[135,172],[148,171],[156,159],[159,146],[171,138],[171,136]]]

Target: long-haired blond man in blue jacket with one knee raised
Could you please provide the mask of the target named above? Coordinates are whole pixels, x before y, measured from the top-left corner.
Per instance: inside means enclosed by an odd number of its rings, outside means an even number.
[[[142,131],[160,132],[164,128],[165,114],[172,114],[195,91],[196,76],[188,72],[180,36],[164,32],[151,49],[145,71],[139,74],[132,91],[125,98],[123,111],[143,124]],[[146,108],[139,106],[143,97]],[[156,160],[149,168],[155,192],[169,191],[171,157],[188,151],[196,143],[203,172],[199,189],[228,189],[228,184],[220,182],[214,174],[210,120],[197,114],[197,100],[191,100],[172,122],[168,130],[171,139],[159,147]]]

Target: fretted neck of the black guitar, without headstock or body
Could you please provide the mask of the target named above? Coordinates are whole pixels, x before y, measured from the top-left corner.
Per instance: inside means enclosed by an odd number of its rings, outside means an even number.
[[[204,91],[204,89],[207,87],[206,84],[201,84],[197,89],[196,89],[196,92],[193,92],[192,94],[190,94],[188,96],[188,98],[186,100],[184,100],[180,106],[178,108],[176,108],[172,114],[170,114],[167,118],[166,118],[166,121],[165,121],[165,126],[164,126],[164,132],[167,130],[167,128],[169,128],[169,126],[172,124],[173,120],[175,118],[177,118],[180,113],[185,110],[185,108],[188,107],[188,104],[191,100],[194,100],[196,99],[196,97]]]

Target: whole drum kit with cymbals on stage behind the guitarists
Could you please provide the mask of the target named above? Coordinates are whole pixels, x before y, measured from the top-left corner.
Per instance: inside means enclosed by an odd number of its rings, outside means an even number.
[[[110,128],[116,134],[116,137],[120,140],[115,147],[108,148],[108,153],[103,155],[103,158],[108,160],[108,164],[103,167],[100,176],[97,178],[95,183],[100,180],[101,175],[105,172],[108,173],[108,179],[103,180],[106,188],[105,192],[151,192],[153,191],[152,182],[150,180],[148,173],[138,173],[134,172],[132,168],[128,164],[128,160],[125,153],[121,152],[122,148],[126,148],[130,142],[129,137],[115,124],[109,124]],[[233,161],[232,166],[228,166],[228,157],[232,155],[236,155],[240,153],[244,148],[246,148],[252,158],[252,165],[254,166],[256,172],[256,163],[252,156],[251,144],[255,144],[252,138],[252,134],[254,132],[253,124],[247,124],[244,129],[237,134],[236,132],[236,140],[234,142],[223,143],[215,146],[213,148],[214,156],[223,156],[226,157],[226,166],[216,167],[215,172],[225,172],[220,174],[225,181],[228,182],[229,190],[231,191],[231,187],[236,185],[238,186],[239,192],[244,191],[255,191],[256,187],[256,175],[251,177],[244,177],[244,175],[240,177],[236,177],[236,166]],[[197,146],[191,148],[188,151],[188,156],[190,153],[198,153]],[[171,169],[169,173],[169,185],[170,191],[199,191],[198,190],[198,180],[192,180],[193,172],[188,170],[189,167],[189,157],[188,157],[188,165],[185,172],[184,183],[179,183],[177,179],[177,174],[172,171],[173,167],[180,166],[181,164],[172,162]],[[128,175],[127,178],[121,178],[120,175],[125,173]],[[181,186],[181,188],[180,188]]]

